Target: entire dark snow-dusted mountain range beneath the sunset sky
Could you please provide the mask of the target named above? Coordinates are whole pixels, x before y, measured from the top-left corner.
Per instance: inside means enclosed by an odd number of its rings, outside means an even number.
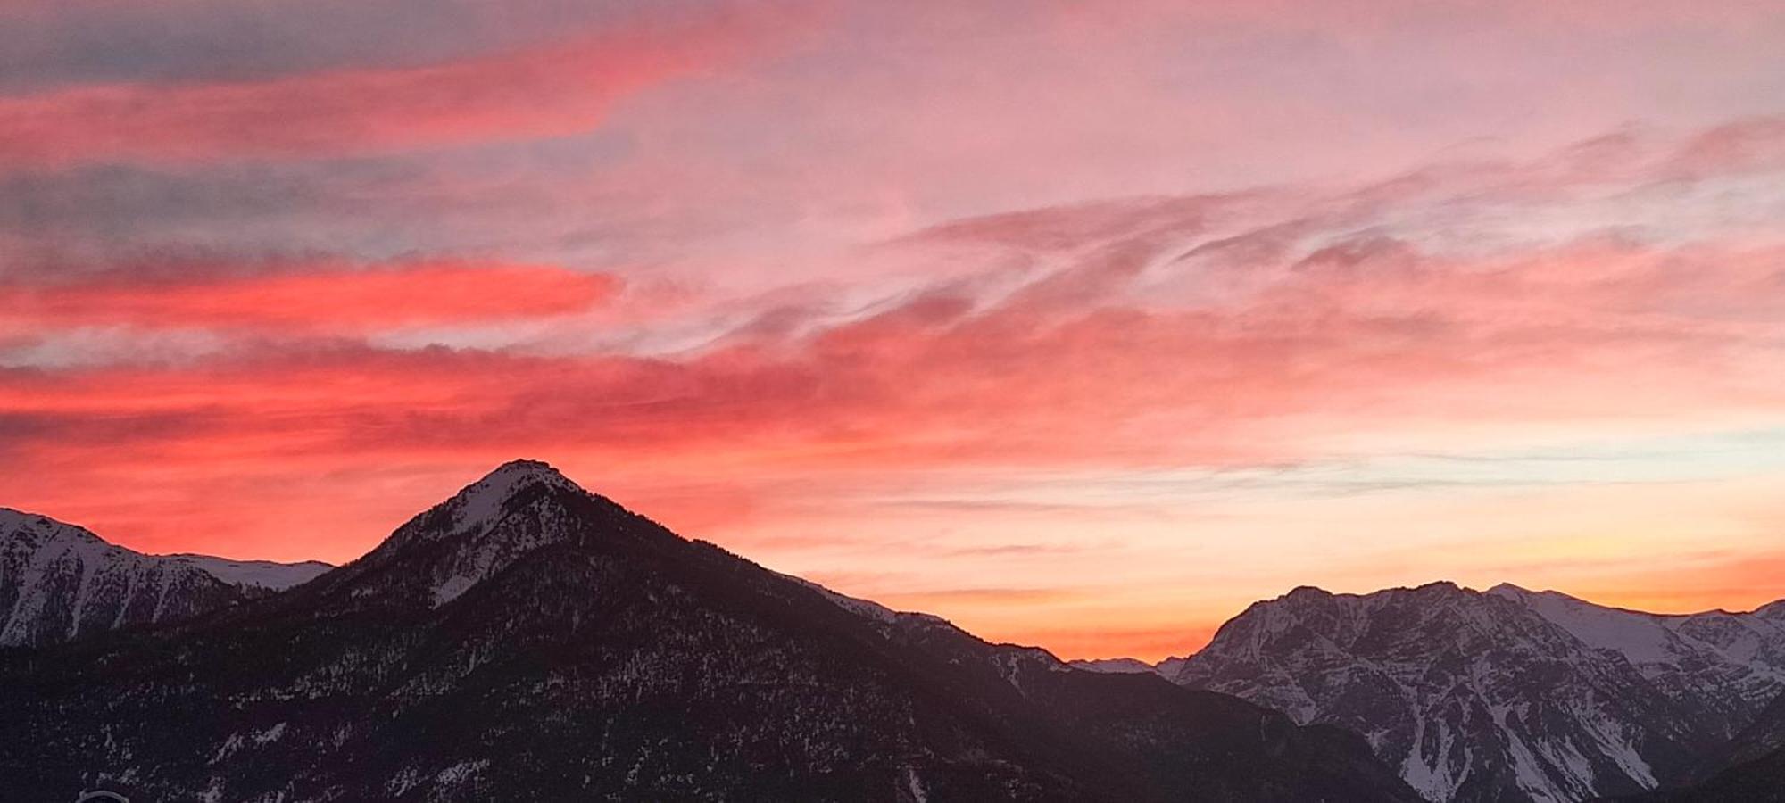
[[[0,799],[1785,799],[1785,603],[1294,589],[1157,666],[991,644],[516,460],[346,566],[0,510]]]

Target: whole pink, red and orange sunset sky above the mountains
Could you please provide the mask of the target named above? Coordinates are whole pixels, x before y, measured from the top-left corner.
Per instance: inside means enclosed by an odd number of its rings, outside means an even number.
[[[509,459],[1062,657],[1785,596],[1785,11],[0,2],[0,505],[346,562]]]

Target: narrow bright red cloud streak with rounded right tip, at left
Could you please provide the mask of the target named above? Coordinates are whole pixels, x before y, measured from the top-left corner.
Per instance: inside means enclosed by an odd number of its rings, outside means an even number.
[[[139,278],[127,269],[66,282],[0,284],[0,316],[21,330],[64,327],[316,330],[330,334],[582,312],[616,280],[552,266],[287,264],[273,273]]]

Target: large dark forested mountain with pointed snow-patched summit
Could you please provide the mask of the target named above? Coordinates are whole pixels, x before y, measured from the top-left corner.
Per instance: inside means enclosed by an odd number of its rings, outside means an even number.
[[[0,710],[21,799],[1417,799],[1353,733],[834,594],[537,462],[289,591],[0,651]]]

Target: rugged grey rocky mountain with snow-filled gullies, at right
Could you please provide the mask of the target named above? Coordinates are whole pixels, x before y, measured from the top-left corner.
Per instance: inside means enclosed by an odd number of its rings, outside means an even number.
[[[1255,603],[1166,678],[1362,733],[1435,801],[1580,801],[1692,774],[1780,691],[1774,608],[1664,617],[1503,585]]]

